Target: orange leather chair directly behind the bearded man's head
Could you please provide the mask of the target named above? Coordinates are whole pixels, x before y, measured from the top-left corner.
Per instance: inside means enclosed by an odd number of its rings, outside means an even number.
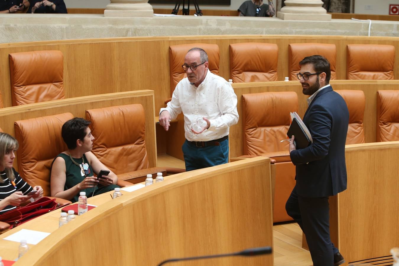
[[[337,48],[328,43],[290,43],[288,45],[288,73],[290,80],[298,80],[296,74],[300,71],[299,62],[306,56],[322,55],[330,62],[331,78],[336,79]]]

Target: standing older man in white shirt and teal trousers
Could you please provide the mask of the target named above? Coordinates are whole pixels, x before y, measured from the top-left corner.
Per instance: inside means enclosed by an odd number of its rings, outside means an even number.
[[[225,164],[229,160],[229,127],[238,122],[237,96],[225,79],[208,70],[203,49],[190,49],[182,67],[187,77],[178,83],[166,108],[161,108],[159,122],[168,130],[170,120],[183,112],[186,171]],[[206,126],[195,131],[192,124],[199,118]]]

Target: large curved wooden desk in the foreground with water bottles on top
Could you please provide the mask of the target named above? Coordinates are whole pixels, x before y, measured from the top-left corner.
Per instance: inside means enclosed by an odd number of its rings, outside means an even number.
[[[22,228],[51,233],[16,266],[113,265],[115,260],[157,265],[167,258],[273,246],[269,167],[269,159],[258,157],[173,175],[116,200],[108,193],[90,198],[100,206],[60,229],[56,210],[2,237]],[[3,258],[17,256],[17,242],[0,240],[0,246]],[[271,266],[273,255],[189,264]]]

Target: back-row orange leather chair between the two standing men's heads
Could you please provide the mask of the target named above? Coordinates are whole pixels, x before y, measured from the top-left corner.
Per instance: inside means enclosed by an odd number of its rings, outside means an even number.
[[[230,44],[230,78],[234,83],[277,81],[278,57],[277,44]]]

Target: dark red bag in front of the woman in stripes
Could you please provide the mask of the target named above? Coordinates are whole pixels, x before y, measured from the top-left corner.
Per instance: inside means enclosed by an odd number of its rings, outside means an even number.
[[[10,224],[10,229],[12,229],[22,223],[42,215],[43,213],[49,213],[50,211],[58,209],[62,206],[65,205],[56,203],[55,199],[41,197],[37,201],[31,202],[24,207],[17,207],[16,209],[0,215],[0,221]]]

